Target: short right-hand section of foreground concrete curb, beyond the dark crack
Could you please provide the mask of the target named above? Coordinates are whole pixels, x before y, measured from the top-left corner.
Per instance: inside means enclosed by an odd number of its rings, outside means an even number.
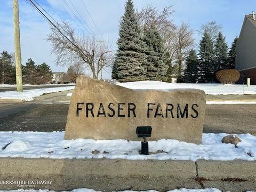
[[[256,189],[256,161],[196,162],[197,181],[204,188],[222,191],[254,191]]]

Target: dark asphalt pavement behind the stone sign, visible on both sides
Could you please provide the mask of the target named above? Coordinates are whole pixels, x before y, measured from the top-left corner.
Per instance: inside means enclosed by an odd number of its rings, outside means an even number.
[[[0,131],[64,131],[70,99],[66,94],[65,91],[43,95],[33,102],[0,104]],[[255,122],[256,105],[206,105],[203,132],[256,135]]]

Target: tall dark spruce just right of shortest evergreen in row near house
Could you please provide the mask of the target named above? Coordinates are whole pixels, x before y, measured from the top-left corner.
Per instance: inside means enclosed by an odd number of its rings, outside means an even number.
[[[198,82],[214,81],[214,45],[208,33],[204,33],[199,44]]]

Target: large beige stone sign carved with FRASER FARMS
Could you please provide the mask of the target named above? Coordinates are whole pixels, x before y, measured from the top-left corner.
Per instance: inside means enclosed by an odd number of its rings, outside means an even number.
[[[201,143],[205,114],[202,90],[131,90],[79,76],[65,139],[137,138],[137,126],[152,126],[151,138]]]

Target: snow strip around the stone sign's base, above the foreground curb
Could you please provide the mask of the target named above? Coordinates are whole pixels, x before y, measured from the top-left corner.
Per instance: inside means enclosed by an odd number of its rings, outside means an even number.
[[[256,160],[255,136],[236,134],[242,142],[235,148],[221,142],[226,135],[203,134],[202,145],[172,139],[149,141],[150,155],[139,155],[140,141],[64,140],[64,132],[0,132],[0,157]],[[8,143],[10,145],[2,149]]]

